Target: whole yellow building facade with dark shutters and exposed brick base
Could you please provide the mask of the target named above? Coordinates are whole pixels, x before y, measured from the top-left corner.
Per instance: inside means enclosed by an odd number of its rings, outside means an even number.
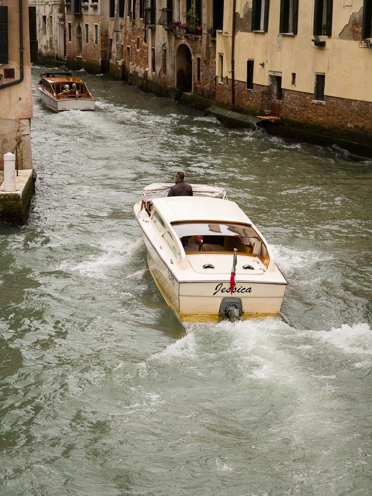
[[[225,2],[217,103],[372,142],[371,0]]]

